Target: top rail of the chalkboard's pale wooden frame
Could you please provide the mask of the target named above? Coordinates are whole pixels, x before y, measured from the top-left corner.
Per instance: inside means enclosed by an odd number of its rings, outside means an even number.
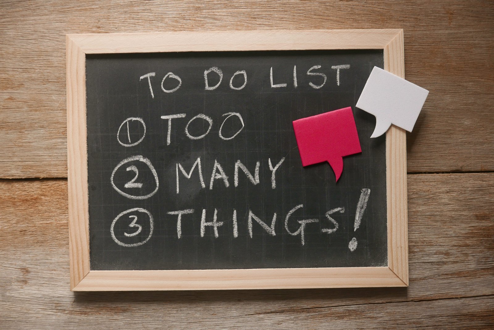
[[[382,49],[396,38],[396,34],[397,29],[320,29],[75,34],[67,35],[67,38],[74,41],[86,54],[101,54],[173,51]],[[403,43],[402,38],[400,40]]]

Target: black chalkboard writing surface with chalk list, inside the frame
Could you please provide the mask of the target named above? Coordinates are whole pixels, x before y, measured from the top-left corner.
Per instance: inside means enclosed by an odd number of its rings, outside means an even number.
[[[355,108],[382,49],[85,65],[91,270],[387,266],[385,137]],[[302,167],[292,121],[348,106],[362,153],[335,182],[328,163]]]

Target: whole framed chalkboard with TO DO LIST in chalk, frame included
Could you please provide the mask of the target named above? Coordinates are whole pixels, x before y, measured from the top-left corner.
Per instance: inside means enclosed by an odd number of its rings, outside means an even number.
[[[355,108],[374,65],[404,78],[403,30],[67,35],[71,289],[408,286],[406,132]]]

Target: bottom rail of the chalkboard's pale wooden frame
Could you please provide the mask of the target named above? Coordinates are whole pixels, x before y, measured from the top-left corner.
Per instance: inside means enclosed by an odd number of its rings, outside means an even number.
[[[74,291],[406,287],[389,267],[92,270]]]

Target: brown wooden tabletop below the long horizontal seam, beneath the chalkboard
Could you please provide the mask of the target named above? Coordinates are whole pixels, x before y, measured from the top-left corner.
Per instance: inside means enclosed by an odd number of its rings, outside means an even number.
[[[3,329],[492,329],[494,173],[409,174],[410,287],[71,292],[67,181],[0,180]]]

